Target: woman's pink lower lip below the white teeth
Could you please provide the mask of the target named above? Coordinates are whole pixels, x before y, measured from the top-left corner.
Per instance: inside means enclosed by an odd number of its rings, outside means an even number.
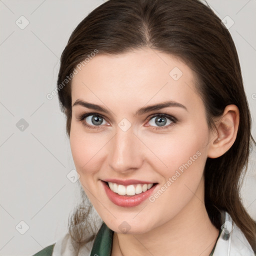
[[[153,192],[154,188],[157,186],[157,184],[154,184],[151,188],[146,190],[145,192],[135,194],[135,195],[119,195],[115,192],[113,192],[109,186],[104,182],[101,181],[104,189],[106,191],[106,194],[108,198],[116,205],[122,206],[122,207],[132,207],[132,206],[137,206],[140,204],[142,201],[147,199],[150,194]]]

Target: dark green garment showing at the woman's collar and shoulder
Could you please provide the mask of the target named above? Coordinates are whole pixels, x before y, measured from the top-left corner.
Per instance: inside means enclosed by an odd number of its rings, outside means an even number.
[[[103,222],[94,239],[90,256],[94,256],[94,255],[110,256],[111,250],[112,250],[113,233],[114,233],[113,230],[108,228],[107,225]],[[218,237],[220,233],[221,232],[219,231]],[[44,249],[40,250],[33,256],[51,256],[54,244],[55,243],[45,247]],[[209,256],[212,256],[215,246],[216,246],[216,243]]]

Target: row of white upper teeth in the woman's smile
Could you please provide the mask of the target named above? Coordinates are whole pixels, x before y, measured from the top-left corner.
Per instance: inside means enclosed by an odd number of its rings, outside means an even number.
[[[110,189],[118,193],[119,195],[135,195],[145,192],[147,189],[150,189],[153,183],[150,184],[134,184],[134,185],[120,185],[113,182],[107,182]]]

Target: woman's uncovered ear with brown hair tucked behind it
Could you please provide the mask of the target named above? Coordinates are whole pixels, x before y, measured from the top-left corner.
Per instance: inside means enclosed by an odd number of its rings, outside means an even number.
[[[239,109],[236,105],[227,105],[218,121],[215,121],[217,134],[211,134],[207,156],[216,158],[224,154],[234,143],[238,125]]]

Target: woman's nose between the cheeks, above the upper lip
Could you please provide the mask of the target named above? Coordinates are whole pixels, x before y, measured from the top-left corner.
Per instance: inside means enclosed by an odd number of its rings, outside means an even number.
[[[123,131],[117,127],[109,146],[109,166],[122,174],[130,173],[142,165],[143,143],[135,135],[132,126]]]

